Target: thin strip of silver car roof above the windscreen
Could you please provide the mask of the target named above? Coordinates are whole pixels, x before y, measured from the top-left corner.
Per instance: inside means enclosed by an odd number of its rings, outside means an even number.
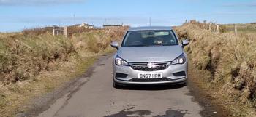
[[[173,30],[173,28],[170,26],[143,26],[143,27],[129,28],[128,31],[145,31],[145,30]]]

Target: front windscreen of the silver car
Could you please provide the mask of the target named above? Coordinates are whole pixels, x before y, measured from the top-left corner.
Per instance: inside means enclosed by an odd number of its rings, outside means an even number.
[[[129,31],[122,47],[151,47],[178,45],[173,31]]]

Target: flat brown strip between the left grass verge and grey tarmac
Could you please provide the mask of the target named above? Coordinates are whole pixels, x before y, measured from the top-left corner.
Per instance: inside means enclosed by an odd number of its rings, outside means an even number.
[[[73,94],[77,92],[80,86],[83,86],[87,81],[89,81],[89,77],[94,73],[94,68],[99,65],[99,62],[112,57],[112,55],[113,53],[99,55],[94,64],[89,66],[84,73],[80,74],[76,78],[72,78],[70,81],[67,81],[58,88],[53,89],[52,92],[43,94],[42,96],[32,100],[28,105],[26,105],[27,109],[24,112],[17,113],[16,116],[39,116],[40,113],[48,110],[50,105],[53,105],[59,98],[64,97],[65,94]]]

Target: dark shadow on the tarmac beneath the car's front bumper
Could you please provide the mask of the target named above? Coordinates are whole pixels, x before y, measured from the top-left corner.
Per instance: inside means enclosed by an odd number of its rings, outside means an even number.
[[[148,90],[148,91],[158,91],[158,90],[171,90],[171,89],[181,89],[187,86],[182,84],[175,85],[129,85],[129,86],[121,86],[118,89],[121,90]]]

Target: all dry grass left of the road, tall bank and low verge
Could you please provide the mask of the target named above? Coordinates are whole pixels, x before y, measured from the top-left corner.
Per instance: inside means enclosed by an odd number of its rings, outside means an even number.
[[[1,116],[15,116],[32,98],[84,73],[127,28],[74,30],[68,39],[43,28],[0,33]]]

